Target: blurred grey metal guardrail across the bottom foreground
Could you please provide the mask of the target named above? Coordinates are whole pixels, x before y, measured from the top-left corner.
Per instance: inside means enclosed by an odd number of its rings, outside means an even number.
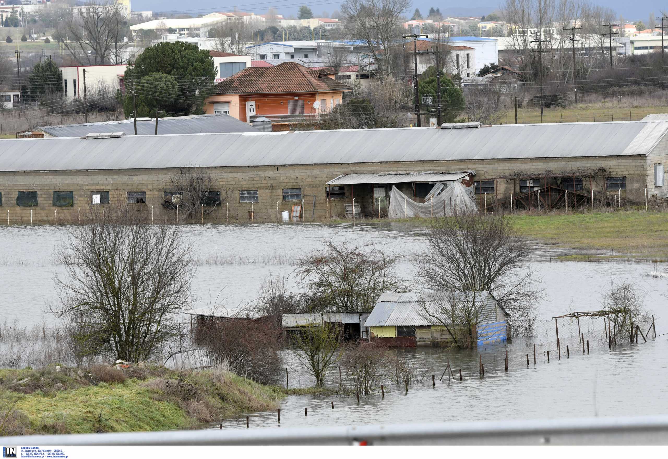
[[[668,415],[347,427],[180,430],[0,438],[21,446],[103,445],[666,445]]]

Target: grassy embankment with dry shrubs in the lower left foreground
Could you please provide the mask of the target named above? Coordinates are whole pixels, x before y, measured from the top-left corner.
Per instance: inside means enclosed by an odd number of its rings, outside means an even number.
[[[56,371],[55,365],[0,369],[0,436],[192,428],[276,410],[286,394],[223,369],[178,373],[100,365],[88,373]]]

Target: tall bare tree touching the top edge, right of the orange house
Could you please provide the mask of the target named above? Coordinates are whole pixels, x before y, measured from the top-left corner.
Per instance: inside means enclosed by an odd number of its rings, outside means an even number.
[[[352,39],[367,44],[378,73],[389,75],[391,54],[387,53],[401,41],[400,23],[411,0],[346,0],[341,5],[341,16]]]

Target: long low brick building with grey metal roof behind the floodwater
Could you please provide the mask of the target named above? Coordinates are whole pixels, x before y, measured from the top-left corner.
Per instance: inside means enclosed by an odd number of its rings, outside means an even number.
[[[275,222],[302,202],[299,218],[322,220],[353,199],[359,215],[385,216],[393,186],[424,202],[454,181],[488,211],[645,202],[667,196],[667,131],[642,120],[0,140],[0,210],[9,224],[31,210],[68,222],[127,203],[172,221],[182,190],[170,178],[183,166],[212,178],[208,222]]]

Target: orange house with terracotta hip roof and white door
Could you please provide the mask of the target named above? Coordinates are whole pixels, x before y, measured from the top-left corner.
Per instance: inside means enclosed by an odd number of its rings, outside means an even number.
[[[261,116],[273,122],[317,120],[341,104],[351,88],[334,79],[333,69],[309,69],[296,62],[246,67],[216,84],[206,99],[208,114],[226,113],[243,122]]]

